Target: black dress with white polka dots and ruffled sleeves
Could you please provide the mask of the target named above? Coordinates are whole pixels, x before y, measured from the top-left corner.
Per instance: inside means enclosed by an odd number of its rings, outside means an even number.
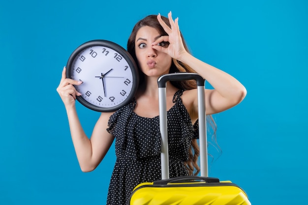
[[[170,177],[187,176],[191,139],[197,138],[183,105],[183,90],[176,92],[173,107],[167,111]],[[133,188],[142,182],[161,178],[159,117],[140,117],[134,113],[136,101],[115,112],[107,131],[116,137],[116,164],[111,176],[107,205],[127,205]]]

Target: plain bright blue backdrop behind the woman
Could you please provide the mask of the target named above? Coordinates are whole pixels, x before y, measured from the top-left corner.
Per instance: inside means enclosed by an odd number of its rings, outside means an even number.
[[[114,146],[82,173],[56,92],[70,54],[92,39],[126,48],[134,24],[172,10],[192,54],[239,79],[244,101],[216,114],[210,176],[253,205],[307,204],[305,0],[1,0],[0,204],[105,204]],[[90,136],[99,114],[77,105]]]

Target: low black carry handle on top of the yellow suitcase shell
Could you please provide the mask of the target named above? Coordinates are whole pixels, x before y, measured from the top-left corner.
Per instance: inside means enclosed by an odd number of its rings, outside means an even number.
[[[219,178],[205,176],[178,176],[174,178],[154,181],[153,185],[166,185],[168,183],[183,183],[191,181],[205,181],[206,183],[219,183]]]

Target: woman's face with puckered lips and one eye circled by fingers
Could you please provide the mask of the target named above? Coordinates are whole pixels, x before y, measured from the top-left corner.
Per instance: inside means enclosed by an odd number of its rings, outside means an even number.
[[[147,76],[161,76],[169,73],[172,58],[168,54],[152,48],[152,43],[160,36],[158,30],[149,26],[142,27],[136,34],[136,57],[140,69]]]

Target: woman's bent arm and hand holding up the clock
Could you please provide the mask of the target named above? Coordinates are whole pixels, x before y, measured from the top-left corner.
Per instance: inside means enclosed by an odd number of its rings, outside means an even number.
[[[80,168],[83,172],[94,170],[109,150],[114,136],[106,131],[109,117],[112,113],[102,113],[97,120],[91,139],[85,134],[77,115],[75,100],[80,93],[73,85],[82,82],[65,77],[65,68],[62,71],[62,79],[57,91],[64,103],[73,145],[76,151]]]

